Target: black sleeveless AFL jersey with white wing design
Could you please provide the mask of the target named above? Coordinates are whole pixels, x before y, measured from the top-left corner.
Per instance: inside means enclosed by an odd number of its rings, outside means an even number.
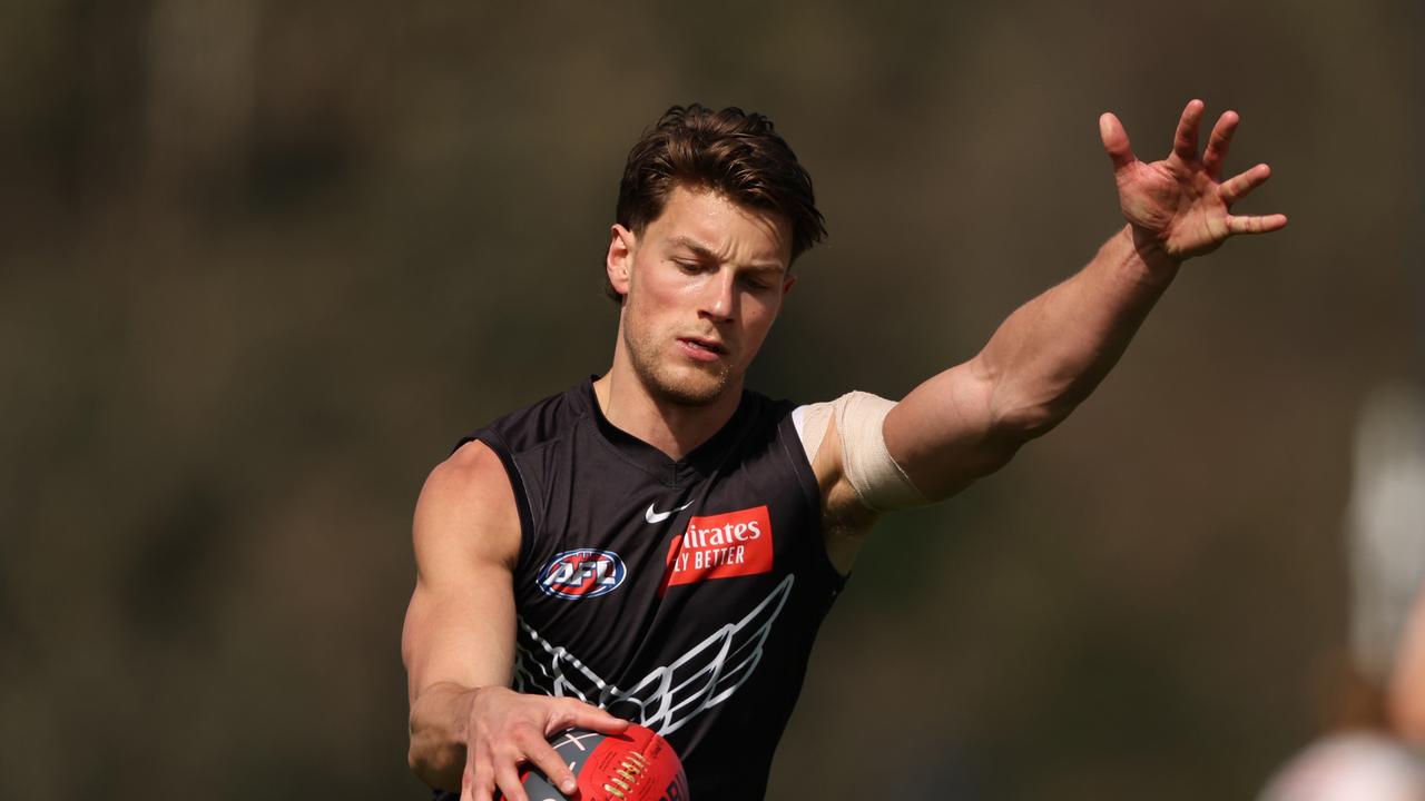
[[[668,738],[693,801],[762,798],[842,579],[792,405],[744,392],[683,460],[604,419],[590,381],[479,439],[523,530],[514,688]]]

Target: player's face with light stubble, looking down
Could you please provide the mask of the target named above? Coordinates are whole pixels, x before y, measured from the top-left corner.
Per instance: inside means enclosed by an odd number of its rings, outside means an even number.
[[[610,279],[623,345],[651,395],[711,403],[742,375],[794,279],[791,225],[721,194],[674,187],[641,234],[614,225]]]

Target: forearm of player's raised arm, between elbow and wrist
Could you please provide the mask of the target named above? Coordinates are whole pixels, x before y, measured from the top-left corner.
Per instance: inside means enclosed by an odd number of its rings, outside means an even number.
[[[1059,425],[1119,361],[1177,269],[1126,225],[1079,274],[1016,309],[976,356],[996,419],[1023,439]]]

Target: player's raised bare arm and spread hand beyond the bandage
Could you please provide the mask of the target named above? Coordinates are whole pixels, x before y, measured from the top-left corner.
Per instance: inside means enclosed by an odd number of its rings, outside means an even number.
[[[969,362],[915,388],[885,420],[886,448],[931,500],[1003,466],[1062,422],[1107,375],[1183,261],[1234,234],[1264,234],[1281,214],[1238,217],[1231,205],[1271,174],[1258,164],[1221,181],[1237,114],[1217,121],[1197,155],[1203,103],[1187,104],[1173,151],[1144,164],[1113,114],[1099,120],[1127,225],[1077,275],[1029,301]]]

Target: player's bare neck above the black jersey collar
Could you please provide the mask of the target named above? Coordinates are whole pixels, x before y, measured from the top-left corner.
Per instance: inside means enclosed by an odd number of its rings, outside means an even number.
[[[623,369],[620,369],[623,368]],[[594,382],[594,398],[604,419],[664,452],[670,459],[683,459],[697,446],[712,439],[742,400],[742,383],[704,406],[660,402],[638,381],[633,369],[614,358],[614,366]]]

